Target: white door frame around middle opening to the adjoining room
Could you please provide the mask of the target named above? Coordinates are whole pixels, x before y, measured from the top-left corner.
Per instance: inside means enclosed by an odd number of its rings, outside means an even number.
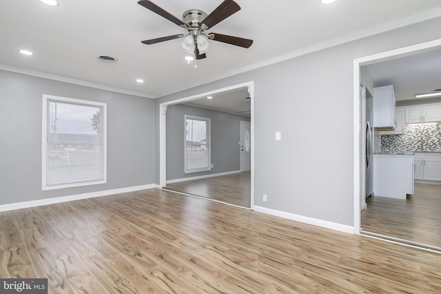
[[[203,92],[192,96],[167,101],[159,105],[159,186],[165,187],[167,182],[167,107],[174,104],[189,102],[206,96],[247,88],[251,98],[251,209],[254,209],[254,81],[231,85],[220,89]]]

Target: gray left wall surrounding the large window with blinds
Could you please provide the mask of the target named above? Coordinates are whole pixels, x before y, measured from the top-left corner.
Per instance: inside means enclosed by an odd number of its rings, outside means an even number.
[[[42,95],[107,103],[107,184],[41,190]],[[0,70],[0,204],[154,183],[154,101]]]

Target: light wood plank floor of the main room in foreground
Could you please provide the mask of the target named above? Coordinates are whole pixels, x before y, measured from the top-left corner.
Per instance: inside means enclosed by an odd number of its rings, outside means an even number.
[[[49,293],[441,293],[441,254],[148,189],[0,213]]]

